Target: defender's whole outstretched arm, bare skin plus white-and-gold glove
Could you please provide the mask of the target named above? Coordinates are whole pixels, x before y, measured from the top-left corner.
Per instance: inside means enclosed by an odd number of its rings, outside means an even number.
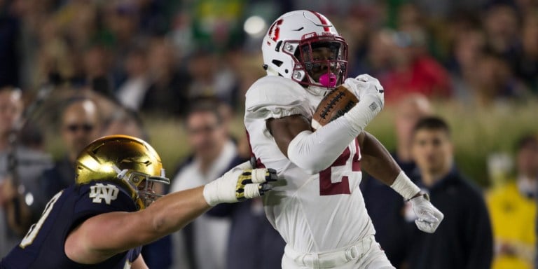
[[[243,163],[205,186],[170,193],[141,211],[91,217],[67,236],[65,253],[78,263],[99,263],[183,228],[213,205],[263,195],[275,180],[275,170],[251,170]]]

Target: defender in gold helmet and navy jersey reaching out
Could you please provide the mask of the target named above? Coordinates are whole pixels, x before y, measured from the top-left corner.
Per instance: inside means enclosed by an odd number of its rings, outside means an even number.
[[[205,186],[160,197],[153,184],[170,180],[158,153],[135,137],[102,137],[78,156],[75,184],[48,202],[0,268],[147,268],[140,246],[216,204],[263,195],[275,179],[274,170],[244,163]]]

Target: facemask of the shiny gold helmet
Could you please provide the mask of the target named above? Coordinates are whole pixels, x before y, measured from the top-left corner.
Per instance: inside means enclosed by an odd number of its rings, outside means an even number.
[[[160,177],[151,176],[142,172],[134,170],[120,170],[116,165],[113,165],[113,169],[118,173],[118,179],[121,179],[133,193],[133,200],[137,204],[137,209],[144,209],[149,207],[151,203],[155,202],[158,198],[163,197],[153,191],[153,184],[170,184],[170,179],[165,176],[165,170],[160,170]]]

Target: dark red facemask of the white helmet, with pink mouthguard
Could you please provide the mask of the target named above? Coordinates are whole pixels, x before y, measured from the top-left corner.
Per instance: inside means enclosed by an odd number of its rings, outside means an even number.
[[[291,79],[302,85],[333,90],[347,76],[347,43],[338,36],[303,37],[293,57]]]

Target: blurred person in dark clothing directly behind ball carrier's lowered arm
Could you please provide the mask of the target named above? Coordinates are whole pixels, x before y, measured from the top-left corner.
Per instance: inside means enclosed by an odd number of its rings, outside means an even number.
[[[411,156],[413,127],[418,120],[431,113],[432,108],[423,95],[411,94],[403,97],[396,106],[394,125],[397,144],[392,156],[408,175],[415,170],[415,162]],[[406,226],[403,216],[404,201],[392,188],[370,176],[365,176],[360,186],[366,209],[375,227],[375,239],[385,250],[389,261],[396,268],[400,268],[411,240],[401,230]]]

